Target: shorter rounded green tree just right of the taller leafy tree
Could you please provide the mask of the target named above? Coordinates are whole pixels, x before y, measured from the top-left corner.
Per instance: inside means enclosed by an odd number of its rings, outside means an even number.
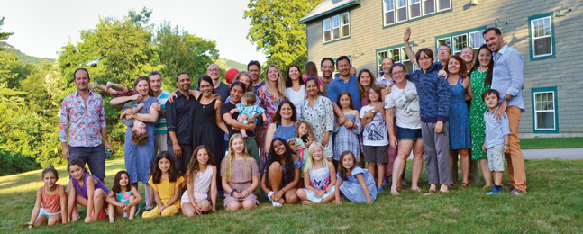
[[[160,63],[165,65],[161,72],[164,75],[163,88],[166,90],[178,89],[176,76],[182,72],[188,73],[193,84],[196,84],[198,77],[206,74],[206,67],[219,58],[214,40],[178,30],[178,26],[172,27],[169,22],[160,24],[153,44]]]

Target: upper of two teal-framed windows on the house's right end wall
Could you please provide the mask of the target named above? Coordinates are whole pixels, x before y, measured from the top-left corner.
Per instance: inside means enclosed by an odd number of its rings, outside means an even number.
[[[553,21],[552,13],[528,17],[531,60],[555,58]]]

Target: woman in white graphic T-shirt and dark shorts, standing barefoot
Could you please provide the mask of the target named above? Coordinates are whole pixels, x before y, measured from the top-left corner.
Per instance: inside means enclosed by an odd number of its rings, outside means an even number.
[[[421,137],[421,117],[419,116],[419,95],[415,84],[405,78],[406,69],[401,63],[395,63],[389,68],[389,76],[395,81],[390,94],[385,97],[385,115],[388,128],[389,143],[393,148],[399,145],[393,164],[393,185],[391,193],[399,194],[397,184],[403,172],[407,157],[413,152],[413,178],[411,190],[421,192],[417,185],[423,168],[424,140]],[[393,131],[393,116],[396,110],[397,136]]]

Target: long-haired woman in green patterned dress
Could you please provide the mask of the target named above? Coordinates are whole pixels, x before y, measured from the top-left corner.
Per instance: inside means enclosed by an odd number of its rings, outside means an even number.
[[[469,107],[469,129],[471,132],[471,159],[479,160],[482,175],[486,185],[484,188],[492,186],[492,175],[487,166],[487,154],[482,151],[482,144],[486,138],[486,125],[484,123],[484,112],[487,106],[482,101],[482,94],[490,89],[492,85],[492,71],[494,62],[492,60],[492,50],[487,45],[482,45],[478,49],[478,57],[474,66],[469,70],[469,89],[466,99],[471,100]]]

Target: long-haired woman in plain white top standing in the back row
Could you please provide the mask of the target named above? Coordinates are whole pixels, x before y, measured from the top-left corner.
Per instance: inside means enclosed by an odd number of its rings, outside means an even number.
[[[305,85],[299,67],[292,65],[287,68],[286,96],[296,106],[297,119],[302,117],[301,106],[305,100]]]

